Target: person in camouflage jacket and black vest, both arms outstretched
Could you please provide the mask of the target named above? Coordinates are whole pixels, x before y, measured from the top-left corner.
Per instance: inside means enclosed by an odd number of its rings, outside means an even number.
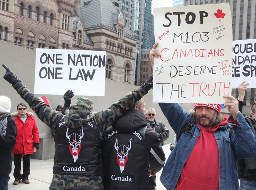
[[[125,110],[152,87],[153,74],[137,90],[126,94],[109,108],[92,113],[94,103],[78,97],[68,114],[53,110],[42,102],[6,65],[4,79],[12,84],[46,125],[54,131],[55,156],[50,190],[102,190],[101,135]]]

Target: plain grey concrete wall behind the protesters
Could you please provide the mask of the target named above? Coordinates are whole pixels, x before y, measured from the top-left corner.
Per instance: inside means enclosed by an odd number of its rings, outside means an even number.
[[[21,79],[22,83],[28,87],[32,92],[34,91],[34,70],[35,70],[35,52],[26,50],[24,48],[15,46],[13,44],[7,43],[0,40],[0,60],[1,65],[5,64]],[[6,82],[2,77],[4,76],[5,69],[0,66],[0,86],[1,94],[10,97],[12,101],[11,112],[17,112],[17,104],[25,103],[25,101],[17,94],[17,92],[12,88],[12,85]],[[106,79],[105,82],[105,96],[104,97],[90,97],[94,103],[94,111],[99,111],[108,108],[111,104],[116,102],[118,99],[124,96],[124,94],[138,88],[138,86],[117,83],[112,80]],[[68,90],[68,89],[67,89]],[[75,93],[75,92],[74,92]],[[45,94],[36,94],[38,97],[45,96]],[[174,138],[174,131],[172,131],[169,126],[165,116],[162,114],[158,103],[152,102],[153,90],[149,91],[148,94],[144,96],[146,109],[153,107],[156,109],[156,119],[165,123],[166,127],[170,129],[170,138],[165,141],[165,144],[172,142]],[[63,105],[64,99],[60,95],[46,95],[50,105],[53,109],[57,105]],[[71,104],[75,102],[77,96],[74,96],[71,100]],[[186,108],[186,106],[185,106]],[[28,111],[32,111],[28,108]],[[36,159],[46,160],[53,159],[54,157],[54,141],[51,134],[50,128],[45,125],[36,116],[37,125],[40,134],[40,148],[32,156]]]

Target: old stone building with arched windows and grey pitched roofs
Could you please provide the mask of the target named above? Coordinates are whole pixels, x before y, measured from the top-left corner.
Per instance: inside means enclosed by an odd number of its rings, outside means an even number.
[[[106,78],[134,84],[137,40],[110,0],[0,0],[0,40],[31,51],[106,51]]]

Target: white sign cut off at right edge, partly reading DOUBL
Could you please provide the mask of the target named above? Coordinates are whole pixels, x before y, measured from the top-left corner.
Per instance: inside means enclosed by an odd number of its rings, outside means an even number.
[[[233,41],[232,88],[242,81],[249,83],[247,88],[256,88],[256,39]]]

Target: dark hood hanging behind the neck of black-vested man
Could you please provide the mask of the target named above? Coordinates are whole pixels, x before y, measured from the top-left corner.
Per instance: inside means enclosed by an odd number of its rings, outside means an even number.
[[[126,133],[131,133],[145,126],[147,126],[145,115],[134,108],[127,110],[113,125],[117,131]]]

